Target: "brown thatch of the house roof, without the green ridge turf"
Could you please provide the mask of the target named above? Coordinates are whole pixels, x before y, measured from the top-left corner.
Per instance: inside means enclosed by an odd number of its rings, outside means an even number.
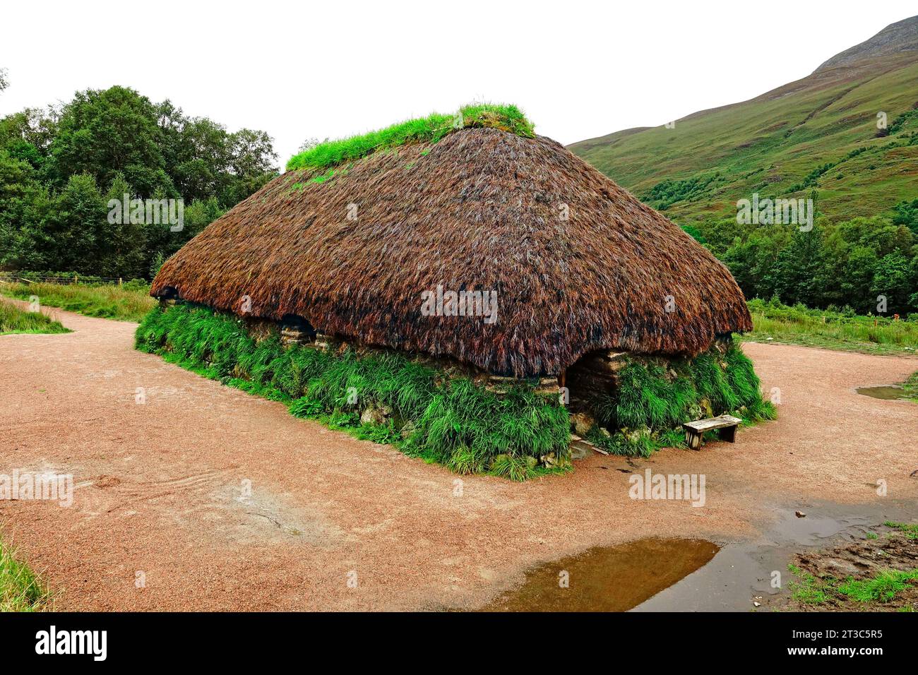
[[[163,264],[151,294],[238,313],[248,298],[254,316],[517,377],[597,349],[698,354],[752,328],[711,253],[550,139],[461,129],[341,169],[276,178]],[[437,285],[497,290],[498,321],[423,315]]]

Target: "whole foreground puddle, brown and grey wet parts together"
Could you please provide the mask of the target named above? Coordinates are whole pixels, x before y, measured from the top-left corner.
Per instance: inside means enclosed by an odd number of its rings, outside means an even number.
[[[841,505],[811,502],[776,509],[755,541],[646,538],[597,547],[527,570],[521,586],[483,609],[494,612],[769,611],[788,604],[788,570],[830,546],[858,546],[887,520],[912,522],[911,501]],[[826,554],[829,555],[829,554]],[[918,564],[918,563],[916,563]]]

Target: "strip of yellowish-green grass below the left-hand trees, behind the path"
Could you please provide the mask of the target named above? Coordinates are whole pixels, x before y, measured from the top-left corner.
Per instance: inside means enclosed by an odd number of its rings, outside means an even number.
[[[150,287],[136,282],[123,286],[5,283],[0,284],[0,293],[18,299],[36,296],[47,307],[118,321],[140,321],[156,304],[150,297]]]

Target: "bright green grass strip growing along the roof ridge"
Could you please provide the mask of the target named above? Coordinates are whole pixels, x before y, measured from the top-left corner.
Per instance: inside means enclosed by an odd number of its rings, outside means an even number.
[[[459,108],[458,114],[432,113],[426,118],[409,119],[362,136],[319,143],[316,147],[291,157],[286,168],[287,171],[327,169],[342,162],[365,157],[377,150],[395,148],[409,142],[435,143],[451,131],[467,127],[501,129],[525,138],[532,138],[534,135],[532,122],[516,106],[471,104]]]

